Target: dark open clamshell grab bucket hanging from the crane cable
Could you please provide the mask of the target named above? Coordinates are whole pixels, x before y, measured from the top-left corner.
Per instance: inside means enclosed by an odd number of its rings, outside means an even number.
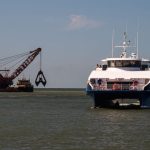
[[[36,79],[35,79],[35,84],[36,84],[36,86],[38,86],[40,83],[42,83],[43,86],[45,86],[46,83],[47,83],[46,78],[45,78],[45,76],[44,76],[42,70],[40,70],[40,71],[38,72],[38,74],[37,74],[37,76],[36,76]]]

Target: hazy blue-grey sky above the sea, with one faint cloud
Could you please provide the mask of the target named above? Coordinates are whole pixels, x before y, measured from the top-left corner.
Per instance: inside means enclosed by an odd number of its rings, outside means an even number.
[[[0,0],[0,58],[42,48],[47,88],[85,88],[90,72],[111,57],[127,31],[150,58],[149,0]],[[118,49],[114,51],[119,55]],[[23,72],[34,80],[39,57]]]

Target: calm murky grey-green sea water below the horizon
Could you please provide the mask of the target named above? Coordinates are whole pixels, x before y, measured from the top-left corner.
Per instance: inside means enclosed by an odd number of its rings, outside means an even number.
[[[91,109],[83,90],[0,93],[0,150],[149,150],[150,110]]]

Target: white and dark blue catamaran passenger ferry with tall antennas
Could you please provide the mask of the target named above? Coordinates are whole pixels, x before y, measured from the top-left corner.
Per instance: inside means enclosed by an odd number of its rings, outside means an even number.
[[[135,47],[137,54],[128,55],[127,49]],[[120,57],[113,57],[113,48],[121,49]],[[87,81],[86,93],[93,97],[94,107],[150,108],[150,60],[138,57],[138,42],[132,46],[126,32],[123,44],[113,48],[112,57],[101,60]]]

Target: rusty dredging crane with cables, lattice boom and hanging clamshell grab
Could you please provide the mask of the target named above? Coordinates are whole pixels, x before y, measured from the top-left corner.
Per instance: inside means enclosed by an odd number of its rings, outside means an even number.
[[[23,54],[2,58],[0,59],[0,65],[2,67],[5,67],[8,64],[11,64],[9,66],[9,69],[1,69],[0,70],[0,89],[7,89],[13,84],[13,80],[16,79],[36,58],[37,55],[41,55],[41,48],[37,48],[33,51],[29,51]],[[41,58],[41,57],[40,57]],[[20,62],[22,62],[20,65],[18,65]],[[17,68],[14,70],[16,65],[18,65]],[[3,75],[2,72],[5,72]],[[11,73],[10,73],[11,72]],[[10,73],[10,75],[9,75]],[[47,81],[43,74],[43,71],[41,70],[41,59],[40,59],[40,71],[37,74],[35,84],[38,86],[39,84],[43,84],[43,86],[46,85]]]

